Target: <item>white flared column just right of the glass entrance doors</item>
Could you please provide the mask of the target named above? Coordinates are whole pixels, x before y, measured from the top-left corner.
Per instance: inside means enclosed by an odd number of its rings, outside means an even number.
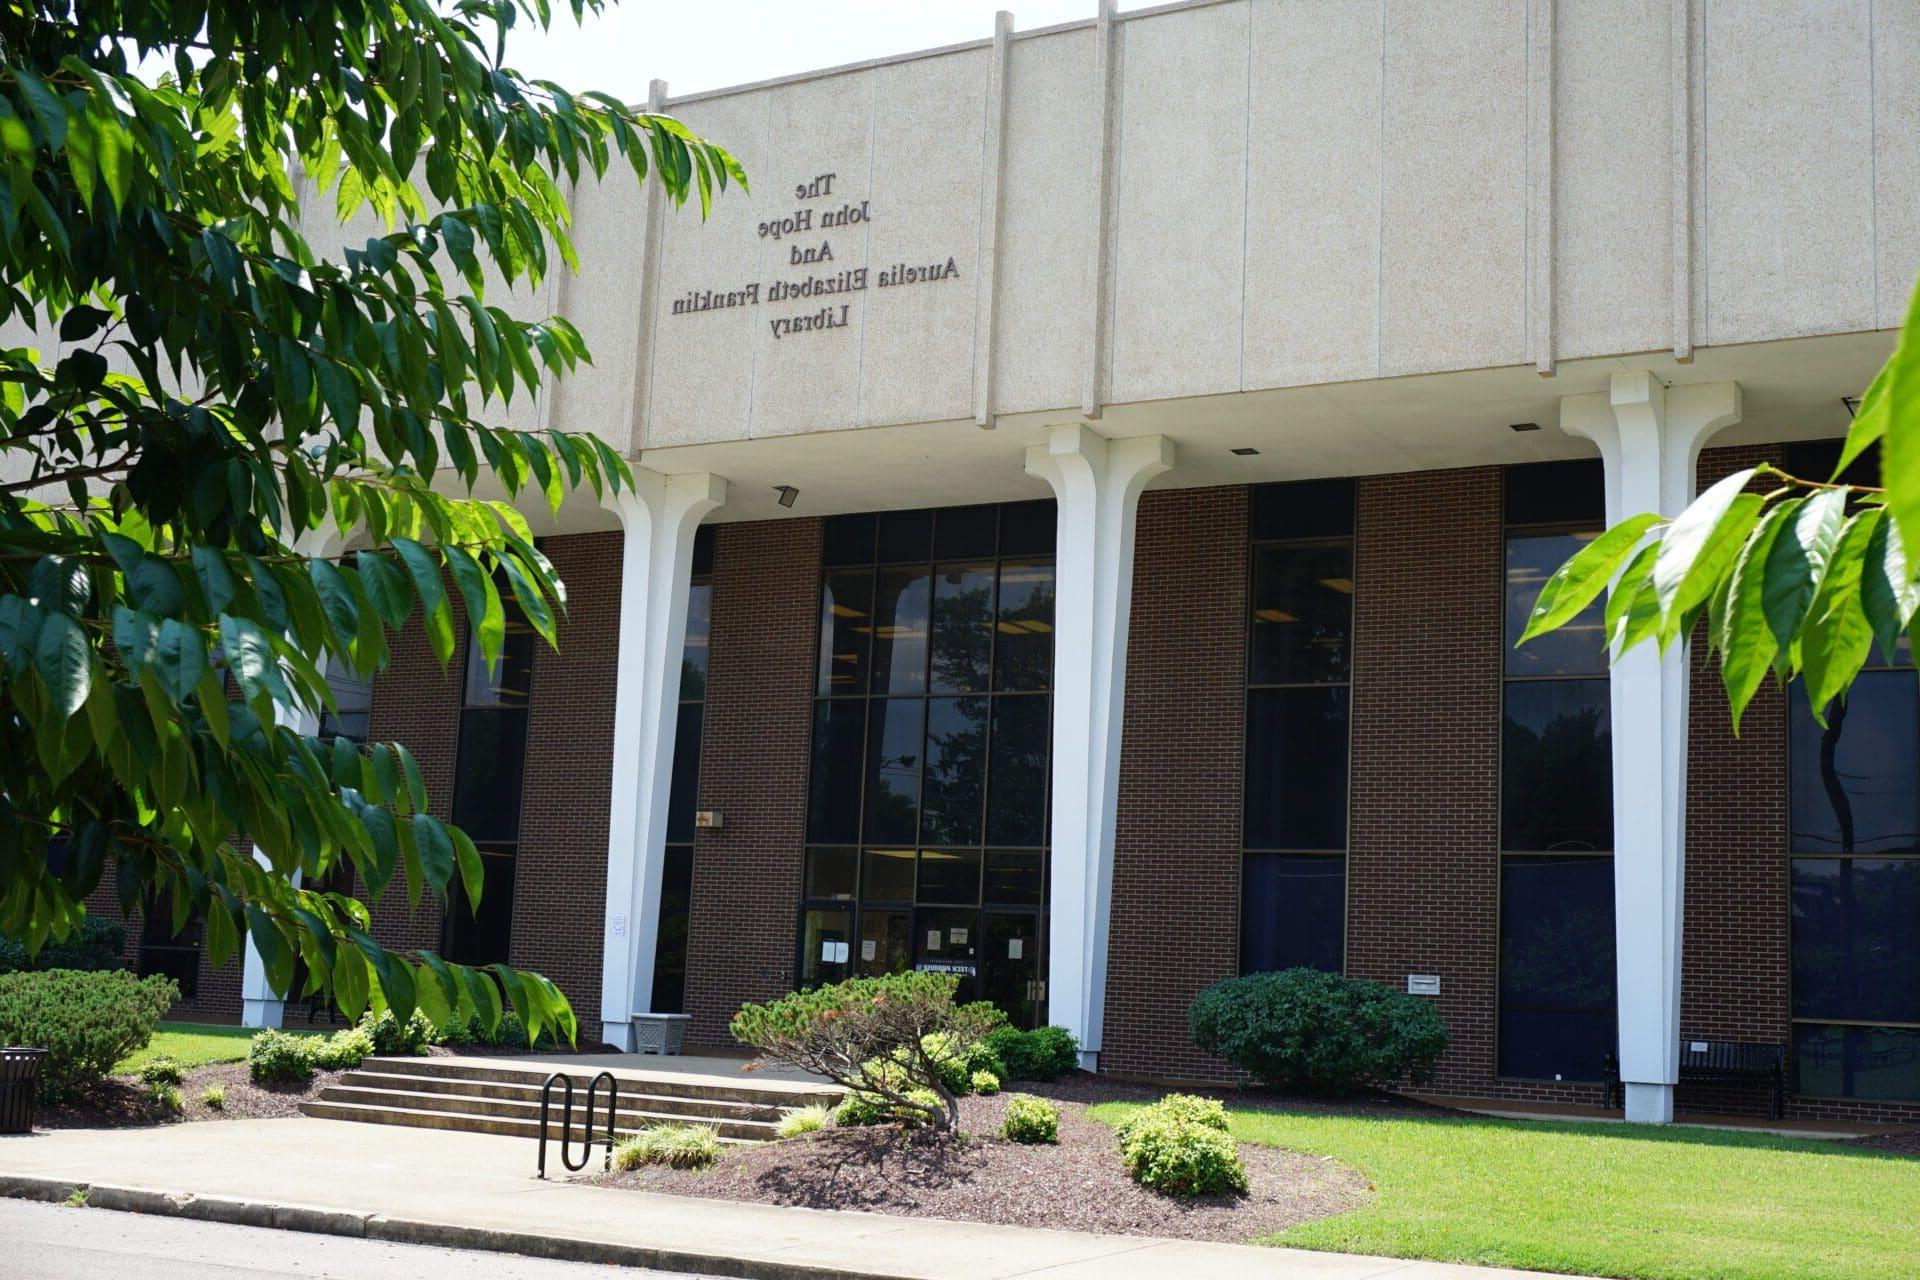
[[[1173,466],[1164,436],[1102,439],[1056,426],[1027,449],[1027,474],[1060,503],[1054,583],[1054,819],[1048,1019],[1098,1067],[1106,1015],[1106,925],[1114,896],[1114,800],[1140,489]]]

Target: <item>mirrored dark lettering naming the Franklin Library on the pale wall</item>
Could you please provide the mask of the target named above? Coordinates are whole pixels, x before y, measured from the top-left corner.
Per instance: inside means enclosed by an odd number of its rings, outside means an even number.
[[[866,292],[868,286],[885,290],[900,284],[935,284],[939,280],[960,278],[960,267],[952,255],[947,261],[893,263],[879,271],[872,271],[870,265],[841,267],[839,263],[847,261],[847,242],[843,240],[841,249],[835,251],[833,240],[826,232],[864,226],[874,221],[874,209],[868,200],[860,203],[839,200],[835,205],[835,180],[839,180],[837,173],[822,173],[810,182],[799,182],[793,188],[793,198],[814,203],[803,203],[793,213],[768,219],[758,226],[760,240],[776,244],[791,242],[787,244],[785,267],[806,271],[766,282],[749,280],[739,288],[687,290],[684,297],[674,299],[674,315],[824,299],[812,311],[795,311],[768,319],[768,328],[780,340],[789,334],[818,334],[829,328],[847,328],[852,303],[839,301],[839,297]]]

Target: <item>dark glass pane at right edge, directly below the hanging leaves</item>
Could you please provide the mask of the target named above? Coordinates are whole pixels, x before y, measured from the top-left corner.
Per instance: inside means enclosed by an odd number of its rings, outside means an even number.
[[[1920,852],[1920,697],[1910,670],[1860,672],[1826,727],[1791,691],[1795,854]]]

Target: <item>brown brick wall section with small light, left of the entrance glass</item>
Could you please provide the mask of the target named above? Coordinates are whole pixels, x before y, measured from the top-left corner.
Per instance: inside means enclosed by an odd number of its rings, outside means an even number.
[[[741,1002],[793,986],[818,608],[818,520],[718,526],[699,806],[724,825],[693,842],[693,1044],[732,1046]]]

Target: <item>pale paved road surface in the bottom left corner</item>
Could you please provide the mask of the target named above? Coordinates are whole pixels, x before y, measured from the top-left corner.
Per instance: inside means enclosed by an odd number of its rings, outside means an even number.
[[[263,1226],[154,1219],[109,1209],[65,1209],[0,1199],[0,1278],[240,1280],[628,1280],[659,1270],[547,1263],[511,1253],[463,1253],[380,1240],[346,1240]],[[676,1276],[685,1280],[685,1276]]]

